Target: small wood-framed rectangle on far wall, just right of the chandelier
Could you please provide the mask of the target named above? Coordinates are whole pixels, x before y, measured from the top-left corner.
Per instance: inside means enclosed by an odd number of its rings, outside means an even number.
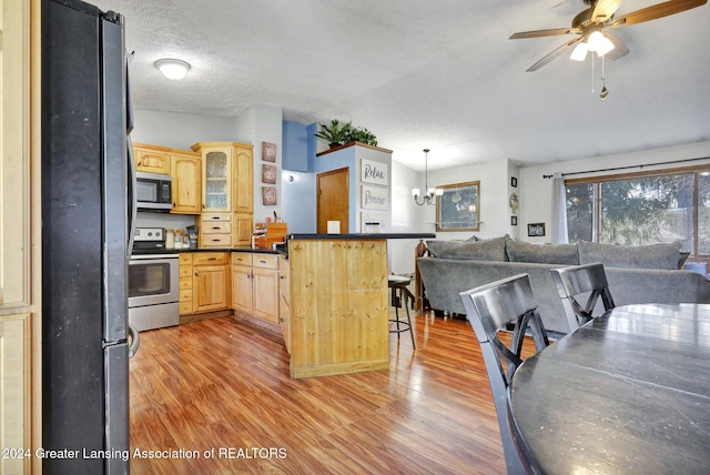
[[[480,182],[469,181],[438,186],[436,231],[479,231]]]

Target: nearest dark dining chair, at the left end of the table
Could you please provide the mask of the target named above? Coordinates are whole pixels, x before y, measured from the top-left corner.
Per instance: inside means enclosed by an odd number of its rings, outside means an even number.
[[[507,408],[508,386],[515,371],[523,364],[520,354],[526,333],[529,332],[532,336],[537,352],[549,345],[530,281],[527,274],[518,274],[459,295],[486,364],[507,472],[530,473],[530,464],[514,443]],[[510,324],[513,337],[510,345],[506,346],[498,332],[508,329]]]

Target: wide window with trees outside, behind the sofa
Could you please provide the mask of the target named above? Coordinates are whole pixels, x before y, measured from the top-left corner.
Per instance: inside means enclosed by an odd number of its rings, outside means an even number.
[[[569,242],[639,245],[679,240],[710,255],[710,170],[566,181]]]

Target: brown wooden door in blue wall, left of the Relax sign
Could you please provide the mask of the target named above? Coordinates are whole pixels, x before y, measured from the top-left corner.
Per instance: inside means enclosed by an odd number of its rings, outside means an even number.
[[[348,232],[349,221],[349,170],[347,168],[318,173],[317,221],[320,234],[327,232],[328,221],[341,222],[341,233]]]

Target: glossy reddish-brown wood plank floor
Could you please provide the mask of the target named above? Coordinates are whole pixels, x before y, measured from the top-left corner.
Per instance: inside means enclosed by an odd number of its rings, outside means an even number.
[[[390,335],[388,371],[305,380],[288,376],[277,334],[234,317],[141,333],[131,473],[505,473],[470,325],[420,314],[415,326],[416,351]]]

